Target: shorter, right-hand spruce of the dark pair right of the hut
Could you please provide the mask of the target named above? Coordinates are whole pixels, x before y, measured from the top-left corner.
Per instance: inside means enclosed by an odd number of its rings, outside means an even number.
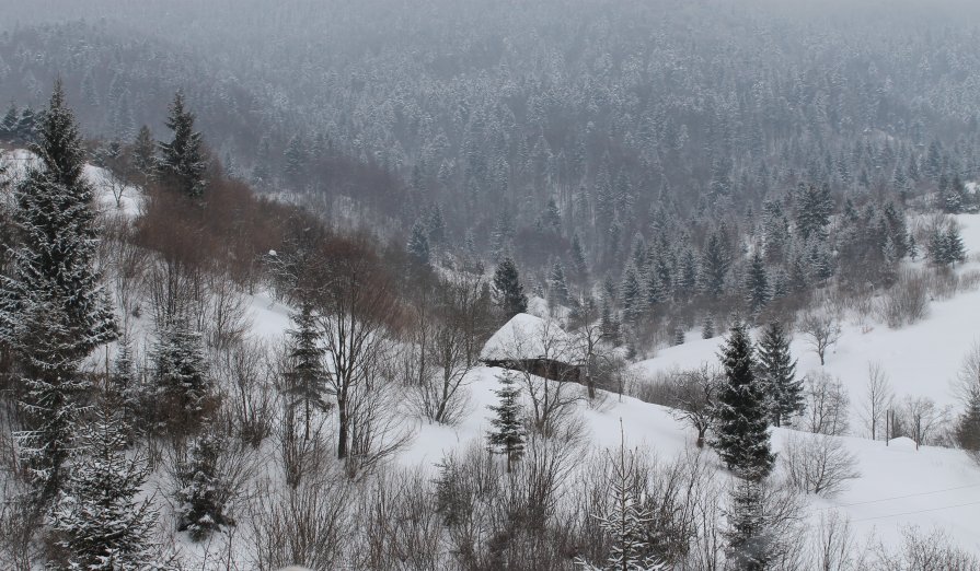
[[[759,339],[759,381],[769,395],[776,427],[803,412],[803,381],[796,378],[796,361],[789,354],[789,338],[783,325],[772,322]]]

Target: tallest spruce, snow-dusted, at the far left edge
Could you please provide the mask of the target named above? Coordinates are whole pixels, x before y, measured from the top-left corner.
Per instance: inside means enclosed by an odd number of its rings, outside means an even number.
[[[0,277],[0,340],[18,359],[27,392],[26,430],[18,434],[38,499],[55,498],[73,450],[81,360],[115,339],[112,308],[95,269],[93,189],[83,177],[84,150],[60,81],[32,150],[39,163],[14,189],[21,243]]]

